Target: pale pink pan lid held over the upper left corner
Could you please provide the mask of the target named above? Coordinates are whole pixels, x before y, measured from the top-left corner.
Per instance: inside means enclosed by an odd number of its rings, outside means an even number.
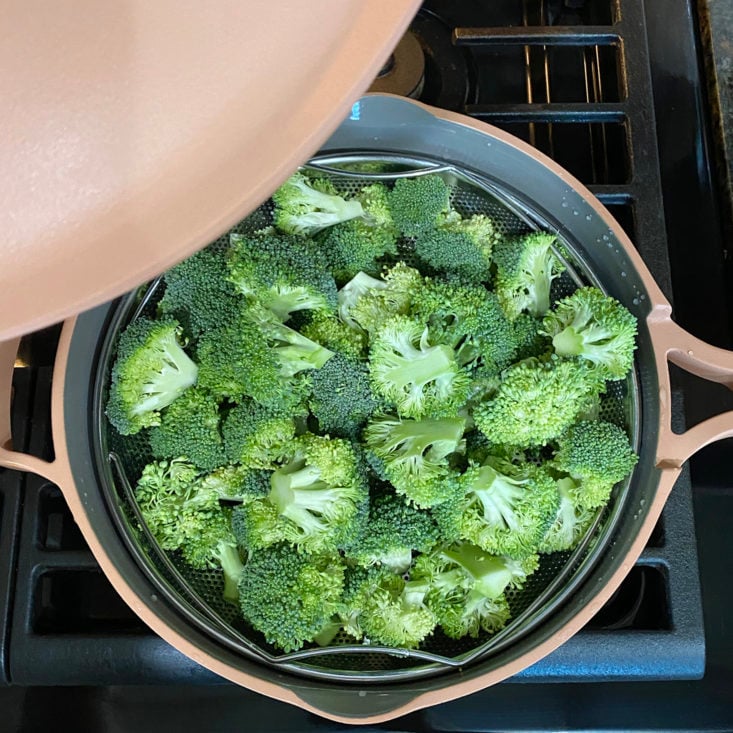
[[[348,114],[417,0],[28,0],[0,27],[0,340],[243,218]]]

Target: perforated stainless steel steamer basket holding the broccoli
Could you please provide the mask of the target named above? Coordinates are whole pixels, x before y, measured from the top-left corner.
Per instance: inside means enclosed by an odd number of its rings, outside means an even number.
[[[427,159],[366,154],[330,156],[311,161],[310,170],[327,176],[339,191],[346,194],[353,194],[375,180],[389,185],[400,177],[434,172],[451,184],[452,205],[458,212],[464,216],[485,214],[491,217],[502,235],[521,234],[539,228],[540,222],[546,221],[541,212],[533,211],[516,196],[502,191],[495,182]],[[231,232],[255,231],[271,221],[272,204],[268,201]],[[226,246],[231,232],[210,246]],[[568,295],[585,284],[602,287],[588,271],[580,254],[573,249],[572,243],[559,235],[558,241],[564,247],[558,254],[565,261],[566,271],[553,283],[553,298]],[[413,261],[409,241],[402,242],[399,256],[408,264]],[[485,661],[536,628],[570,597],[608,545],[629,490],[628,480],[615,488],[611,502],[599,511],[594,524],[575,550],[542,555],[539,569],[530,576],[524,588],[507,593],[512,620],[494,635],[454,640],[436,632],[415,650],[355,645],[337,637],[328,647],[306,648],[291,654],[278,652],[265,642],[259,632],[248,626],[236,606],[223,600],[220,572],[194,570],[176,553],[165,552],[157,546],[144,526],[132,490],[143,467],[153,459],[147,439],[143,434],[120,436],[103,413],[117,336],[135,318],[153,316],[163,290],[160,280],[143,286],[121,299],[112,318],[100,355],[96,385],[97,426],[94,433],[98,441],[97,455],[101,458],[99,474],[120,533],[151,582],[160,589],[162,597],[191,623],[230,650],[299,675],[338,682],[402,681],[437,675],[451,668]],[[624,381],[609,383],[601,414],[603,419],[624,428],[637,449],[638,393],[634,373]]]

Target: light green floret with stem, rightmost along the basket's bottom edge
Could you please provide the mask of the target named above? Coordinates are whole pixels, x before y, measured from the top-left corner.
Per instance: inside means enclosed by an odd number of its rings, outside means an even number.
[[[506,597],[493,592],[488,597],[471,574],[443,553],[418,557],[410,578],[428,585],[425,602],[453,639],[495,633],[509,620]]]

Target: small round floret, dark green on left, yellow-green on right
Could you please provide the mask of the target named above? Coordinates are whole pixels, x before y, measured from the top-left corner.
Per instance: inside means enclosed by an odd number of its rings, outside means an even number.
[[[224,419],[226,456],[248,468],[272,468],[289,453],[295,431],[290,415],[247,400],[232,408]]]

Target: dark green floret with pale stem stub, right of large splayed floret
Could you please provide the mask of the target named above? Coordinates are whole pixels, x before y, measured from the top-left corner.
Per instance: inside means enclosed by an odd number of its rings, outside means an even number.
[[[358,542],[348,547],[346,557],[360,565],[384,565],[403,573],[412,564],[412,553],[429,552],[440,540],[432,515],[393,493],[383,493],[371,502],[369,519]]]

